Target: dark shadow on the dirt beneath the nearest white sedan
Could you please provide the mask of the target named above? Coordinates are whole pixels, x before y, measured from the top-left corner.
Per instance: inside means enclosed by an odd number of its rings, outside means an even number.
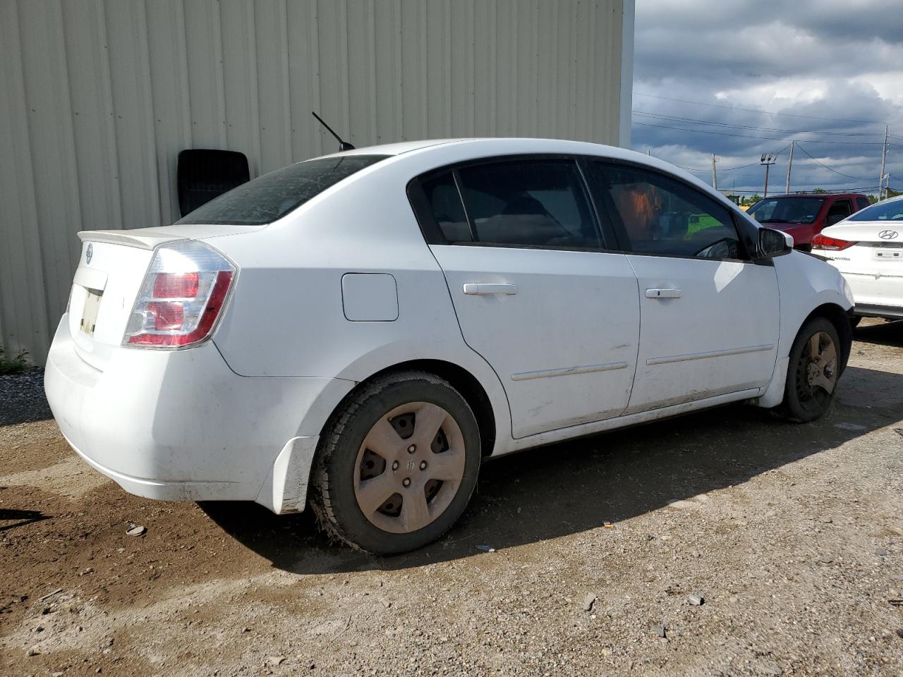
[[[239,543],[294,573],[396,570],[537,543],[617,524],[668,503],[730,487],[897,422],[903,375],[849,367],[828,418],[796,425],[731,405],[670,421],[527,450],[484,465],[470,507],[422,550],[376,557],[332,544],[310,511],[260,505],[201,508]]]

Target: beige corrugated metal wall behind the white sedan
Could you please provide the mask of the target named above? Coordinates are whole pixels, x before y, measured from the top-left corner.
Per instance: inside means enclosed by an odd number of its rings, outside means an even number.
[[[622,0],[0,0],[7,352],[46,356],[79,230],[178,218],[182,149],[241,151],[254,177],[336,150],[311,110],[358,146],[508,135],[617,144],[629,92],[624,9]]]

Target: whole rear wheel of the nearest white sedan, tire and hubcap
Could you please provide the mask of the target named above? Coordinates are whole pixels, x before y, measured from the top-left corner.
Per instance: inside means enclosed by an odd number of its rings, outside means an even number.
[[[382,376],[326,424],[311,506],[335,541],[381,555],[416,550],[464,512],[480,460],[476,417],[452,385],[419,371]]]

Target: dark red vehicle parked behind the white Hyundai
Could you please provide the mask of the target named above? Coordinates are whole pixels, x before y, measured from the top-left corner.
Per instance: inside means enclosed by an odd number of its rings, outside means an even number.
[[[760,199],[747,214],[769,228],[793,236],[796,249],[812,251],[812,238],[853,212],[869,206],[859,193],[802,193]]]

